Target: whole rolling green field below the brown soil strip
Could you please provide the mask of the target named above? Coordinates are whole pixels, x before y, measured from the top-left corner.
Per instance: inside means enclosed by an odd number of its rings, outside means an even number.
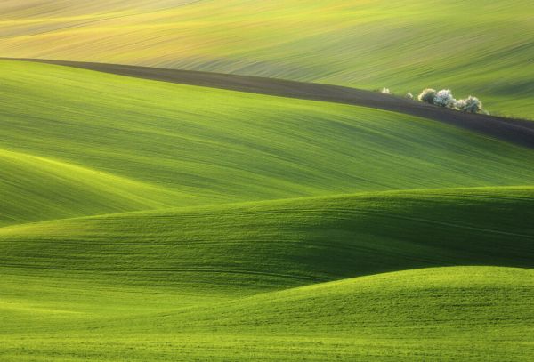
[[[14,60],[0,100],[2,361],[534,354],[532,149]]]

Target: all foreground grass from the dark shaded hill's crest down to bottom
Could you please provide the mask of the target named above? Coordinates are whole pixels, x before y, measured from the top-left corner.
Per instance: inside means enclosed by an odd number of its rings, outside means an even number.
[[[532,268],[534,229],[516,215],[534,217],[533,199],[532,188],[403,191],[5,227],[4,354],[521,360],[531,270],[420,268]],[[417,270],[351,279],[401,269]]]

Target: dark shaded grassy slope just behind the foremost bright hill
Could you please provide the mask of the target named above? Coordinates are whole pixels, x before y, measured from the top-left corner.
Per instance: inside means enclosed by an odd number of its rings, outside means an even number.
[[[531,268],[533,202],[532,188],[450,189],[112,214],[0,229],[0,259],[208,294],[444,265]]]

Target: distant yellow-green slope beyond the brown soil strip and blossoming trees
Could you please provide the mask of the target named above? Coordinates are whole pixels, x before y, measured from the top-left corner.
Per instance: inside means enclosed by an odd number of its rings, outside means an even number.
[[[481,96],[494,112],[534,114],[528,0],[23,3],[15,10],[0,4],[2,56],[387,86],[398,93],[449,87],[458,96]]]

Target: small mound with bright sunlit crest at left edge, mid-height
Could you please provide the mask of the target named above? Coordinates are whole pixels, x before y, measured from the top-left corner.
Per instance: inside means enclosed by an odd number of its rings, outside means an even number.
[[[0,168],[0,225],[155,209],[179,196],[109,173],[2,149]]]

